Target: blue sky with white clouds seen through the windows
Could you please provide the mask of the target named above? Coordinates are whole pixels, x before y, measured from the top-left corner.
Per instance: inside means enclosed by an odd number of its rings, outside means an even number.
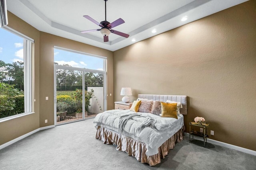
[[[5,63],[23,61],[23,39],[0,28],[0,60]],[[54,49],[54,62],[73,67],[103,70],[104,60],[98,57]]]

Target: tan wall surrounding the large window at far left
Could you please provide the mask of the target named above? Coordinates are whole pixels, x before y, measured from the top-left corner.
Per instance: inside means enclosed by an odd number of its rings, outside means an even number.
[[[34,39],[34,70],[39,75],[40,32],[20,18],[8,12],[8,27]],[[33,61],[32,61],[33,63]],[[35,76],[34,114],[0,123],[0,145],[39,128],[39,77]]]

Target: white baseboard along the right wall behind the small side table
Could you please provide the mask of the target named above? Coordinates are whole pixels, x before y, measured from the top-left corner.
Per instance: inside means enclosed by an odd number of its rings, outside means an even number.
[[[185,132],[184,135],[189,136],[189,133]],[[194,136],[194,139],[199,140],[199,141],[204,141],[204,139],[202,139],[201,137]],[[248,154],[252,154],[252,155],[256,156],[256,151],[254,151],[254,150],[238,147],[238,146],[231,145],[231,144],[224,143],[224,142],[220,142],[220,141],[215,141],[215,140],[209,139],[209,138],[207,139],[207,142],[212,143],[214,145],[219,145],[221,147],[238,150],[240,152],[244,152],[244,153],[248,153]]]

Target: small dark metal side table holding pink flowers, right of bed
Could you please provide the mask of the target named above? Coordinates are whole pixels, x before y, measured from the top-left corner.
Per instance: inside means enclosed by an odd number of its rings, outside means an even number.
[[[192,135],[192,139],[194,139],[194,136],[198,136],[198,137],[202,137],[204,139],[204,147],[205,147],[205,141],[207,143],[207,138],[209,137],[207,135],[207,127],[209,127],[209,123],[202,123],[202,124],[198,124],[196,122],[189,122],[189,143],[190,143],[190,136]],[[192,131],[191,131],[191,126],[198,126],[198,127],[202,127],[203,128],[203,133],[202,132],[198,132],[198,131],[194,131],[194,128],[192,127]]]

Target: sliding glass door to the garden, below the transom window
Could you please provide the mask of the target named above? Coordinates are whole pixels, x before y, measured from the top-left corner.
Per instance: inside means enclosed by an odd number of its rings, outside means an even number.
[[[78,121],[105,110],[106,73],[55,66],[56,125]]]

